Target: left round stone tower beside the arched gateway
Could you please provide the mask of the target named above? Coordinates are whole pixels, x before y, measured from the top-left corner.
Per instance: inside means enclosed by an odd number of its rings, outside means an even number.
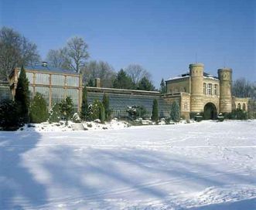
[[[203,63],[194,63],[189,65],[191,78],[190,92],[190,112],[203,112]]]

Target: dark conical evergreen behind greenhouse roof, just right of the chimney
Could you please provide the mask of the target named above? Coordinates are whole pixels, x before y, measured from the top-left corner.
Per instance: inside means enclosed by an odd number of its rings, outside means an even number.
[[[118,89],[134,89],[135,84],[132,83],[131,76],[128,76],[127,73],[121,69],[114,80],[113,87]]]

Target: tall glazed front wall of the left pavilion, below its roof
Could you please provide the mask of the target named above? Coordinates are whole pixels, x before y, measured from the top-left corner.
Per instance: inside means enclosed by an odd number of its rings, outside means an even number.
[[[36,92],[41,93],[46,100],[48,109],[55,103],[60,103],[66,97],[71,97],[74,103],[74,111],[78,112],[81,107],[82,82],[81,75],[72,73],[42,72],[36,69],[25,69],[29,80],[30,97],[33,98]],[[12,84],[12,95],[15,96],[15,89],[18,83],[20,69],[14,69],[9,82]]]

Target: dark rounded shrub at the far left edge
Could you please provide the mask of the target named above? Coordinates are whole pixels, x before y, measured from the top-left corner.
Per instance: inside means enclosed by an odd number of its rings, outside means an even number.
[[[0,102],[0,127],[2,130],[17,130],[19,128],[17,106],[13,100]]]

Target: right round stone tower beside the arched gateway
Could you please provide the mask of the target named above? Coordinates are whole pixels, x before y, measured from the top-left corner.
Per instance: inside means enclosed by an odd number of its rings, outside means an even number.
[[[230,113],[232,111],[232,69],[218,69],[220,80],[220,112]]]

